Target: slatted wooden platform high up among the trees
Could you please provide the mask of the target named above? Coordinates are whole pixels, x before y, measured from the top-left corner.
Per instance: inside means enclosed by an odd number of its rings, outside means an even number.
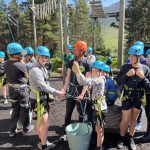
[[[104,18],[105,17],[101,0],[93,0],[90,2],[90,4],[91,4],[91,10],[92,10],[92,13],[90,16],[92,18]]]

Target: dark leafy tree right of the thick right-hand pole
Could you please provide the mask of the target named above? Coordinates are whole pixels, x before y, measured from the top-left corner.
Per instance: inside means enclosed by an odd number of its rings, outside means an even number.
[[[149,16],[149,0],[129,0],[125,26],[127,46],[130,46],[137,40],[150,42]]]

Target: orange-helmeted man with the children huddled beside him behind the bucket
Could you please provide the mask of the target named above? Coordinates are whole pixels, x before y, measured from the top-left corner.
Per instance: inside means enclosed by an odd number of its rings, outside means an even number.
[[[87,57],[84,57],[85,53],[88,53]],[[107,104],[113,105],[117,99],[116,86],[109,75],[111,68],[104,62],[95,60],[95,57],[92,58],[92,48],[88,48],[84,41],[75,43],[73,54],[74,58],[67,63],[67,75],[61,89],[67,93],[65,127],[71,123],[72,112],[76,105],[79,122],[85,121],[83,107],[86,105],[87,121],[95,125],[97,132],[95,149],[101,150],[103,149],[103,127]],[[65,131],[60,139],[67,140]]]

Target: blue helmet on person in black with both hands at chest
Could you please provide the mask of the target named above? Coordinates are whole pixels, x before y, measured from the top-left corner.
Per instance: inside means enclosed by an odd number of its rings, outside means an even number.
[[[129,51],[128,51],[128,54],[130,55],[136,55],[136,56],[139,56],[139,55],[143,55],[144,53],[144,49],[142,46],[139,46],[139,45],[133,45],[129,48]]]

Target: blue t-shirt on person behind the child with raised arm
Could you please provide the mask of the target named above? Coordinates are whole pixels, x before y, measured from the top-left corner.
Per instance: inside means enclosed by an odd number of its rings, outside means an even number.
[[[111,101],[115,101],[117,99],[117,88],[114,81],[109,77],[106,78],[105,83],[106,98]]]

